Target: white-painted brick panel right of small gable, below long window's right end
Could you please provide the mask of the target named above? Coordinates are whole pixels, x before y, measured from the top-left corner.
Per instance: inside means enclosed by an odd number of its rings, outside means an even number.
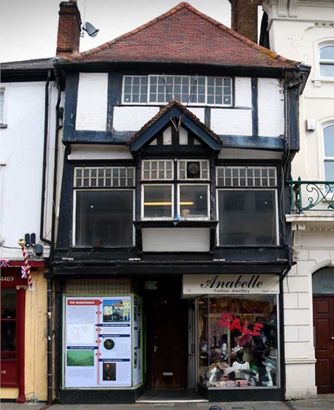
[[[252,135],[252,111],[249,109],[211,108],[210,128],[216,134]]]

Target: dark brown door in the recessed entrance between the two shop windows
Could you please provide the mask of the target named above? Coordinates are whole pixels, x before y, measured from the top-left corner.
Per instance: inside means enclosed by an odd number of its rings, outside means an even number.
[[[153,292],[148,319],[150,388],[186,388],[187,386],[187,301],[180,293],[158,283],[162,292]],[[177,288],[178,291],[180,288]]]

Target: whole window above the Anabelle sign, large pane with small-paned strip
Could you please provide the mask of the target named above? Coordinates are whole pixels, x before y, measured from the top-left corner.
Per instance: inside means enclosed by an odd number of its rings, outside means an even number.
[[[216,167],[220,246],[278,245],[274,167]]]

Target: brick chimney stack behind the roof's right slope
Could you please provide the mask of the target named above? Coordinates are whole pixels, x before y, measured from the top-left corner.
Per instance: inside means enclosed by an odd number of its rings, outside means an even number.
[[[231,28],[242,36],[258,42],[258,6],[251,0],[229,0],[232,6]],[[254,4],[255,3],[255,4]]]

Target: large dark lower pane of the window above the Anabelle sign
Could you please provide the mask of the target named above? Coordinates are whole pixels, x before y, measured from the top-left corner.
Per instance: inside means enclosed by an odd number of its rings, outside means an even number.
[[[276,245],[274,191],[218,191],[219,244]]]

